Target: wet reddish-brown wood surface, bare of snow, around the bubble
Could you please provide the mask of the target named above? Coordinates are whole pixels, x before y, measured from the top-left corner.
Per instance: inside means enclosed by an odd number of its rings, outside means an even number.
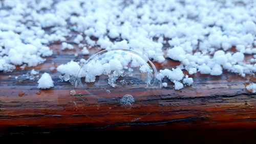
[[[197,73],[190,75],[194,79],[193,86],[176,91],[168,82],[160,97],[140,97],[131,108],[104,101],[76,105],[81,97],[71,96],[73,86],[60,82],[60,73],[51,68],[71,59],[87,59],[89,55],[75,56],[74,53],[81,51],[78,47],[67,51],[61,51],[57,44],[50,47],[54,54],[46,57],[44,64],[0,73],[0,135],[99,128],[114,131],[256,129],[256,95],[245,89],[249,81],[256,82],[251,75],[241,77],[226,71],[220,76]],[[97,51],[97,48],[91,49],[92,53]],[[175,68],[179,64],[170,59],[164,64],[155,63],[158,70]],[[15,79],[32,69],[38,70],[39,75],[50,73],[55,87],[38,90],[37,80]]]

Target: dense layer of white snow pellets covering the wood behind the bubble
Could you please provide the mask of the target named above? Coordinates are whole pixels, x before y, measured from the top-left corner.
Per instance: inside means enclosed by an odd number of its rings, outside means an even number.
[[[53,54],[48,46],[60,42],[62,50],[83,44],[78,53],[84,55],[96,46],[132,49],[159,63],[165,58],[178,60],[190,75],[221,75],[224,70],[254,74],[255,57],[247,60],[245,55],[256,54],[255,5],[256,1],[246,0],[3,1],[0,71],[44,63],[44,57]],[[178,71],[162,74],[170,81],[182,81],[184,75]],[[68,72],[65,79],[69,76]],[[191,78],[182,83],[189,86]]]

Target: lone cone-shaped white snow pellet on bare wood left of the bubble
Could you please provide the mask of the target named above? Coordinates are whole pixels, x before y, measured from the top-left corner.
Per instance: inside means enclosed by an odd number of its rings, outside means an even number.
[[[54,87],[52,77],[49,73],[42,74],[40,79],[38,79],[37,83],[37,88],[39,89],[50,89],[51,87]]]

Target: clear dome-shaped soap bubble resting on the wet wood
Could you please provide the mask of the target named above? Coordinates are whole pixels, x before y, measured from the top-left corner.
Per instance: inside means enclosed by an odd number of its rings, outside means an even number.
[[[107,105],[121,109],[121,98],[129,94],[134,98],[134,101],[130,102],[131,112],[141,107],[148,112],[152,103],[161,96],[162,81],[157,78],[158,74],[152,61],[135,51],[100,51],[81,65],[74,88],[76,93],[81,93],[82,96],[75,97],[75,104],[87,115],[92,112],[93,106],[97,110],[100,110],[101,106],[105,109]],[[104,112],[111,110],[113,109],[105,109]],[[95,113],[97,112],[92,112]]]

